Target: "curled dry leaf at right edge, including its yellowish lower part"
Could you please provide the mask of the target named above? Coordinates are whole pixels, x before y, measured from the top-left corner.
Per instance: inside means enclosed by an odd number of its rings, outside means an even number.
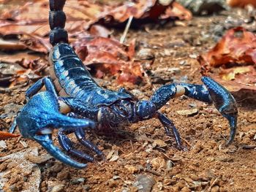
[[[256,90],[256,35],[244,28],[230,29],[214,48],[197,59],[202,73],[214,72],[211,76],[229,91]]]

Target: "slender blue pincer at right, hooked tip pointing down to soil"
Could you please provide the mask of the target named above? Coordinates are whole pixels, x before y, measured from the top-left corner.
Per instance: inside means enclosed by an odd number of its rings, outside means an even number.
[[[214,106],[219,110],[223,117],[227,118],[230,124],[230,139],[226,145],[230,145],[236,135],[238,110],[236,100],[226,88],[210,77],[202,77],[203,83],[209,91]]]

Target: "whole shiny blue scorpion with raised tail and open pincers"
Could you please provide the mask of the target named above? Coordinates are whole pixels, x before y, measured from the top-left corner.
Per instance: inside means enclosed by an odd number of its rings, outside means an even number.
[[[50,77],[43,77],[26,91],[27,99],[31,98],[31,100],[17,118],[17,125],[23,137],[35,139],[53,157],[63,163],[83,168],[85,164],[73,161],[53,146],[50,138],[51,127],[60,128],[59,144],[67,153],[93,161],[94,158],[90,155],[74,148],[67,137],[68,134],[75,133],[81,144],[94,150],[97,155],[103,155],[101,150],[86,140],[86,128],[94,127],[91,121],[97,123],[97,128],[100,129],[116,127],[124,122],[137,123],[141,120],[158,118],[165,127],[166,134],[173,134],[177,147],[182,148],[176,126],[159,112],[159,109],[170,99],[185,95],[208,104],[213,103],[229,121],[230,139],[227,145],[233,142],[238,116],[236,100],[229,91],[210,77],[202,77],[203,85],[188,83],[162,85],[149,100],[142,101],[124,88],[118,91],[101,88],[68,44],[68,34],[64,29],[66,23],[64,4],[65,0],[50,0],[50,43],[53,45],[49,55]],[[38,93],[44,85],[46,91]],[[60,109],[62,113],[68,113],[72,118],[60,115]],[[78,121],[80,124],[77,123],[76,126],[72,121]]]

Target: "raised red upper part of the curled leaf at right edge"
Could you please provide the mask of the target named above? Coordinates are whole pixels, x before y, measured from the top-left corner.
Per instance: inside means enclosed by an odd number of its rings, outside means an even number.
[[[256,64],[256,36],[244,28],[232,28],[208,53],[200,55],[200,64],[222,66],[226,64]]]

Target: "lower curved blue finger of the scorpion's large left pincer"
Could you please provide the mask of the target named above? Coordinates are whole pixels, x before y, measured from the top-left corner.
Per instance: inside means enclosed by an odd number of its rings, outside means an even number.
[[[50,153],[50,155],[52,155],[54,158],[58,159],[59,161],[63,162],[64,164],[73,166],[78,169],[82,169],[87,166],[86,164],[80,164],[78,161],[72,160],[72,158],[69,158],[68,155],[65,155],[59,149],[59,147],[54,146],[50,134],[37,135],[37,136],[34,136],[34,139],[40,145],[42,145],[42,147],[44,147],[45,150],[47,150],[48,153]]]

